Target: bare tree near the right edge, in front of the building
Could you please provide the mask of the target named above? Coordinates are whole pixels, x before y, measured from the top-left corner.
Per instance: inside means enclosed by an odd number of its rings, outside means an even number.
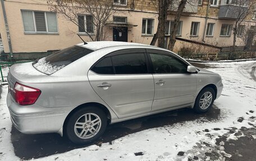
[[[254,13],[256,7],[255,0],[233,0],[230,2],[236,6],[234,12],[235,24],[234,24],[234,39],[233,39],[233,47],[232,52],[236,52],[236,37],[237,34],[243,33],[245,30],[244,22],[249,15]]]

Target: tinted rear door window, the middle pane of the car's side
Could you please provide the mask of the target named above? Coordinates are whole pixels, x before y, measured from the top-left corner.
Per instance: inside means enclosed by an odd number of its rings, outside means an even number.
[[[131,53],[112,56],[116,74],[148,73],[144,53]]]

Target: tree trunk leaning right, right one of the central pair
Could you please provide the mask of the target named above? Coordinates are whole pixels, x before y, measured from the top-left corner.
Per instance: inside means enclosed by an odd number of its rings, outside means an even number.
[[[170,41],[169,41],[168,48],[167,48],[168,50],[173,50],[174,45],[176,43],[177,27],[178,27],[179,22],[180,22],[181,12],[184,10],[187,1],[188,0],[181,0],[181,2],[179,4],[179,7],[178,7],[178,10],[176,12],[175,19],[174,19],[174,22],[173,22],[173,26],[171,28]]]

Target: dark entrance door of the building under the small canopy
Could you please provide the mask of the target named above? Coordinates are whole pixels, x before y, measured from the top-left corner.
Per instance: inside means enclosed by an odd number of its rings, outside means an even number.
[[[127,27],[113,27],[113,41],[127,42],[128,41]]]

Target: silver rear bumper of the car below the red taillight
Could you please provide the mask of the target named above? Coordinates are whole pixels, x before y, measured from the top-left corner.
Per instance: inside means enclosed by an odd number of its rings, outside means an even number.
[[[72,107],[44,108],[39,105],[19,105],[7,95],[7,106],[13,126],[24,134],[58,132]]]

